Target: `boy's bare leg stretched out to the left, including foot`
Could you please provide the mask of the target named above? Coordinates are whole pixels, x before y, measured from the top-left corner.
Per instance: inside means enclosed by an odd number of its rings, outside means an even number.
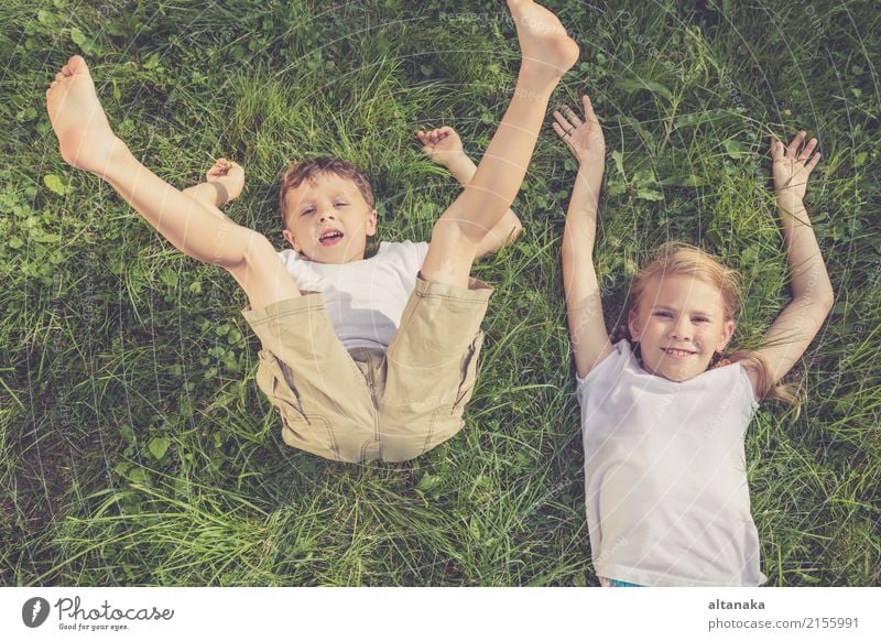
[[[67,163],[108,182],[187,256],[227,269],[244,289],[253,308],[300,295],[262,235],[225,216],[218,219],[204,204],[138,162],[110,129],[80,56],[73,56],[55,76],[46,90],[46,109]]]

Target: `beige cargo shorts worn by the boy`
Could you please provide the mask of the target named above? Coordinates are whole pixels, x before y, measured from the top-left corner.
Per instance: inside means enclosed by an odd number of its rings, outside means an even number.
[[[388,349],[347,351],[319,293],[242,309],[260,337],[257,384],[287,445],[333,460],[401,461],[463,426],[492,287],[416,279]]]

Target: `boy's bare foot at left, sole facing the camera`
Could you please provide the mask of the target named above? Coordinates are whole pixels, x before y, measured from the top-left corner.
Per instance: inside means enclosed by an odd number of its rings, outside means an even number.
[[[81,56],[73,56],[56,74],[46,90],[46,110],[62,157],[77,169],[106,176],[124,144],[110,129]]]

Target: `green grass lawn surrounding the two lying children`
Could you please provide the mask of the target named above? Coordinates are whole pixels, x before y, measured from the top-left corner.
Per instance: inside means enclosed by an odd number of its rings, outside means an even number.
[[[596,585],[558,259],[575,165],[550,126],[525,235],[475,269],[496,294],[465,430],[351,466],[283,445],[244,294],[66,166],[44,112],[85,52],[134,153],[178,187],[239,160],[228,214],[279,248],[278,174],[324,153],[367,171],[380,238],[427,240],[456,186],[413,133],[453,124],[479,159],[519,55],[499,3],[222,4],[0,4],[0,585]],[[551,6],[583,50],[557,98],[587,88],[607,132],[610,327],[634,264],[679,238],[743,273],[755,345],[788,300],[766,135],[822,139],[807,205],[837,304],[791,376],[801,413],[750,426],[752,510],[770,585],[881,584],[877,12]]]

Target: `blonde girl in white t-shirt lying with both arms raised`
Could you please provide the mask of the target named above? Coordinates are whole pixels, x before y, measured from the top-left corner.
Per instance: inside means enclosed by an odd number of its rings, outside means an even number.
[[[777,382],[817,334],[834,293],[803,205],[819,160],[798,133],[771,141],[776,207],[793,301],[761,349],[725,358],[735,333],[736,274],[707,253],[667,243],[630,292],[628,338],[612,345],[594,269],[605,140],[585,96],[585,121],[554,111],[579,169],[563,236],[563,273],[585,445],[594,565],[606,586],[757,586],[743,437]]]

